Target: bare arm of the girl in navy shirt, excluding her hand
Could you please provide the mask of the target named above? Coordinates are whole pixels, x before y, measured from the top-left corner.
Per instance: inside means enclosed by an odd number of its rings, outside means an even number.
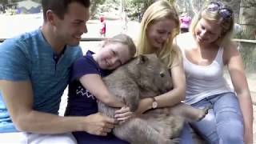
[[[114,95],[110,94],[102,78],[98,74],[86,74],[79,78],[82,86],[89,90],[99,101],[106,103],[108,106],[122,107],[124,104],[119,102]]]

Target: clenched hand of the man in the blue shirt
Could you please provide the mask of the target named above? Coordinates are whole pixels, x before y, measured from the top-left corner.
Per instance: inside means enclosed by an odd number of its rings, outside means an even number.
[[[106,134],[110,133],[116,124],[114,118],[109,118],[100,113],[90,114],[86,118],[88,121],[86,121],[85,130],[89,134],[106,136]]]

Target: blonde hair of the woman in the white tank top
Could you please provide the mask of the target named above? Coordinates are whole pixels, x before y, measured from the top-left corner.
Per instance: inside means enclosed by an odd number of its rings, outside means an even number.
[[[224,7],[230,9],[230,7],[223,4]],[[231,10],[231,9],[230,9]],[[233,34],[234,29],[234,14],[232,12],[232,15],[230,18],[222,18],[222,15],[220,14],[219,10],[208,10],[207,6],[202,9],[202,11],[194,16],[191,25],[190,25],[190,31],[195,36],[195,27],[198,25],[198,22],[201,18],[204,18],[211,22],[217,22],[220,23],[222,26],[222,33],[219,36],[219,38],[216,40],[216,44],[218,46],[227,46],[231,42],[231,37]]]

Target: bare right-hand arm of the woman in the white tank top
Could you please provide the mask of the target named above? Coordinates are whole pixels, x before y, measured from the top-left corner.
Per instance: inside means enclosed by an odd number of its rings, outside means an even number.
[[[253,143],[253,108],[246,74],[242,65],[242,58],[234,44],[227,47],[225,54],[224,58],[226,56],[230,78],[238,95],[238,101],[244,118],[244,140],[246,143]]]

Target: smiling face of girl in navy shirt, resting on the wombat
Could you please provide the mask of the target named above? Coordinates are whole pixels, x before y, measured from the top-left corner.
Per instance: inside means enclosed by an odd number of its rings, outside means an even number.
[[[127,45],[120,42],[106,42],[98,54],[98,65],[103,70],[114,70],[130,59]]]

